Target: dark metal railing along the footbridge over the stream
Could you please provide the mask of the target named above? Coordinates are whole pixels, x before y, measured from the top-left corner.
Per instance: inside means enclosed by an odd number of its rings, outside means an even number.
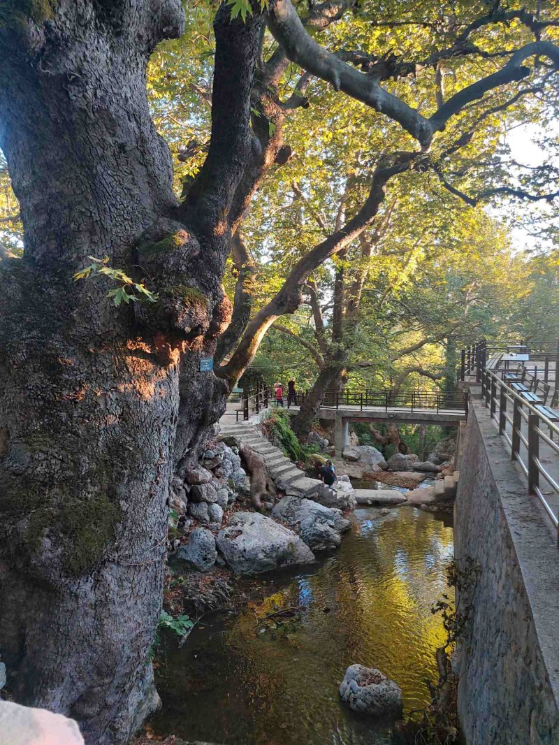
[[[308,392],[301,395],[304,399]],[[368,388],[347,388],[341,391],[326,391],[322,399],[323,408],[343,408],[344,406],[364,408],[380,408],[388,412],[389,409],[404,409],[410,411],[425,411],[440,413],[467,413],[467,395],[457,393],[432,393],[425,390],[373,390]]]

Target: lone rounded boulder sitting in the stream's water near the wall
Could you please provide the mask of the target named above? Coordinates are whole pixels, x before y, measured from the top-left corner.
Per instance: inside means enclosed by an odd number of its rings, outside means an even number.
[[[353,711],[362,714],[394,718],[402,714],[402,690],[376,668],[350,665],[340,685],[340,696]]]

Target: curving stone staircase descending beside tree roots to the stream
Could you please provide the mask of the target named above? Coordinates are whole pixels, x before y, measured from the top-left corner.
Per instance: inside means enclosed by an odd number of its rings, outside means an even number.
[[[322,484],[316,478],[309,478],[303,471],[291,463],[282,451],[272,445],[264,435],[250,424],[250,422],[231,422],[230,418],[222,417],[219,422],[221,433],[233,435],[242,443],[250,446],[264,458],[268,474],[274,480],[278,489],[282,489],[290,496],[306,497],[314,494]]]

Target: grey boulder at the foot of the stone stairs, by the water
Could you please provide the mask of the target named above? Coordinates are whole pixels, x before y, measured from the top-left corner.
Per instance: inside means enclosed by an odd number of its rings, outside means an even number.
[[[340,510],[299,497],[282,498],[272,510],[272,517],[299,530],[312,551],[338,548],[341,533],[350,528],[350,521],[342,517]]]

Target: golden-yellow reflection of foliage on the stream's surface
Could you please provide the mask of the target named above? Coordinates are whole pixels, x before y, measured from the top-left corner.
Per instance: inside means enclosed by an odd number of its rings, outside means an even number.
[[[444,639],[430,607],[446,589],[444,565],[451,557],[452,530],[426,513],[400,510],[366,536],[349,536],[315,574],[293,580],[251,609],[260,616],[309,606],[297,624],[255,638],[254,615],[241,616],[231,630],[230,649],[244,660],[243,685],[254,685],[253,670],[259,670],[263,718],[272,716],[274,726],[288,732],[308,716],[327,739],[338,714],[336,684],[352,662],[394,676],[408,708],[425,703],[423,679],[434,675],[435,647]],[[271,724],[259,717],[255,742]]]

